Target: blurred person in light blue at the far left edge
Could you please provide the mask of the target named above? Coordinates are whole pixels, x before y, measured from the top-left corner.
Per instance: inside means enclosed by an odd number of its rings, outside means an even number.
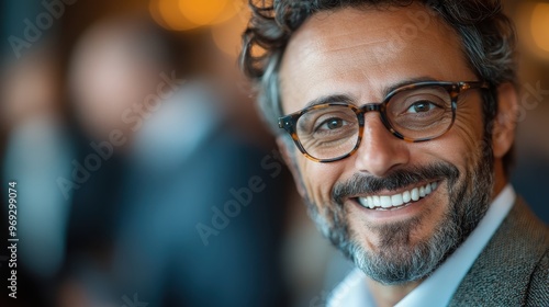
[[[60,272],[66,253],[70,198],[60,193],[57,179],[70,175],[74,147],[67,133],[54,42],[44,37],[20,59],[7,60],[0,77],[0,117],[2,132],[7,132],[2,183],[7,186],[16,182],[18,191],[18,291],[35,294],[20,295],[16,303],[23,306],[51,298],[52,281]],[[2,197],[1,215],[5,235],[7,197]],[[15,268],[2,264],[2,272]]]

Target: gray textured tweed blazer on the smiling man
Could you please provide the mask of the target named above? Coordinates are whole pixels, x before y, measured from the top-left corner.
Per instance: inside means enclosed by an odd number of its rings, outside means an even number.
[[[549,227],[518,198],[450,306],[549,306]]]

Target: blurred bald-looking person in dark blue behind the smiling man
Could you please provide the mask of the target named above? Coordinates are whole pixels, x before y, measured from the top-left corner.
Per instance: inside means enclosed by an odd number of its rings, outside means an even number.
[[[193,59],[172,39],[115,18],[75,49],[70,92],[86,138],[60,306],[134,294],[150,306],[284,305],[280,161],[232,132],[223,109],[236,98],[178,66]]]

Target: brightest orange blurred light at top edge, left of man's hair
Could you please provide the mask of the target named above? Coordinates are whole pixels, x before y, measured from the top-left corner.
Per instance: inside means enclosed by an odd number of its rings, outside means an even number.
[[[228,4],[228,0],[179,0],[183,16],[197,25],[212,24]]]

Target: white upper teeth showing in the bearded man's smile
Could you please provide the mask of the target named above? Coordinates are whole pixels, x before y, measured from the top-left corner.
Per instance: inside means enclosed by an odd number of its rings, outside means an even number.
[[[376,211],[392,211],[404,208],[429,195],[438,186],[438,182],[429,182],[419,187],[414,187],[393,195],[370,195],[356,197],[357,202],[365,208]]]

